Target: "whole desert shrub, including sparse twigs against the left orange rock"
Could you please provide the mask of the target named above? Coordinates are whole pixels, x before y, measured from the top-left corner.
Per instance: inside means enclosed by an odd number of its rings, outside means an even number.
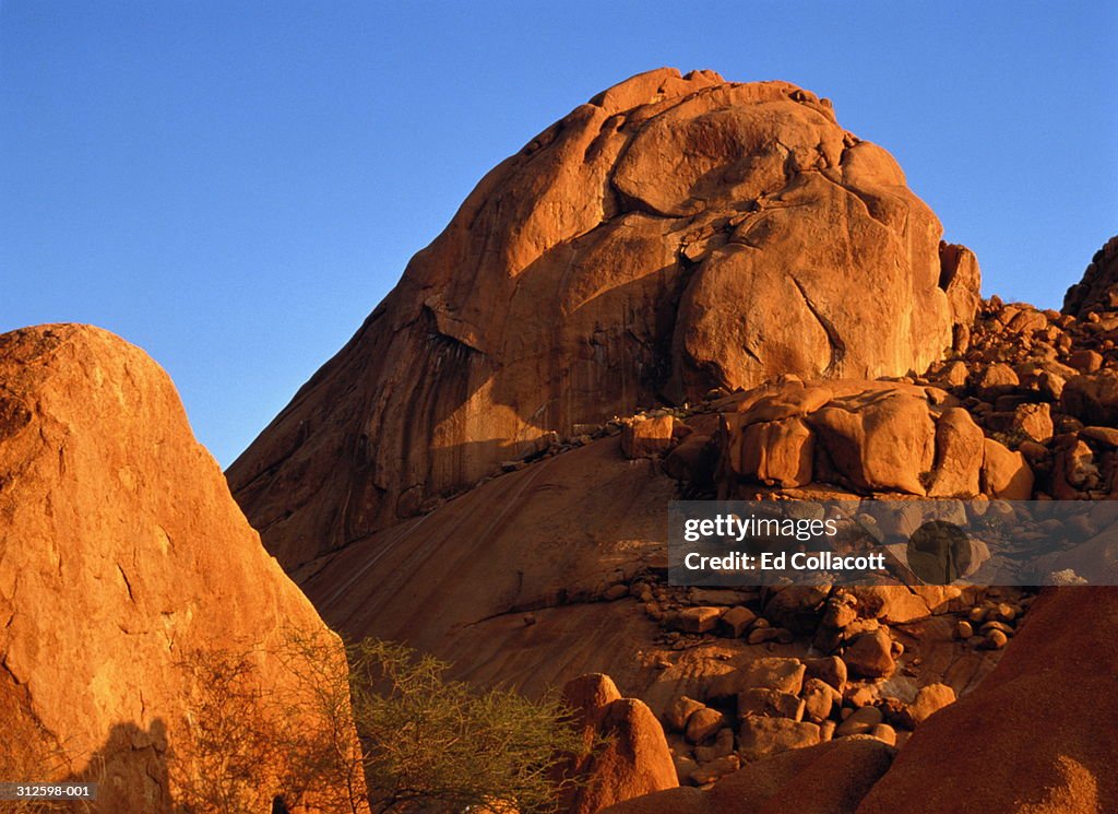
[[[260,681],[265,653],[284,681]],[[292,631],[267,651],[186,655],[193,699],[172,757],[184,811],[266,812],[282,794],[323,814],[546,814],[578,783],[563,767],[586,747],[555,699],[476,691],[448,680],[446,663],[378,640],[345,655],[329,634]]]

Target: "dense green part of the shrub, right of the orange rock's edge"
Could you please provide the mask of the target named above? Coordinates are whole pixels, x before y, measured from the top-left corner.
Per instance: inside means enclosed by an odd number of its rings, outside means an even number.
[[[375,812],[557,808],[571,755],[585,749],[556,699],[476,692],[448,664],[388,642],[350,647],[353,717]]]

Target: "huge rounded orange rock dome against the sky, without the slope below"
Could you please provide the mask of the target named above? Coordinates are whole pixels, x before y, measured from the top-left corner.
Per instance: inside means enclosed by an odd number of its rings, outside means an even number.
[[[229,482],[291,568],[550,432],[784,372],[922,370],[977,303],[940,233],[825,100],[642,74],[490,172]]]

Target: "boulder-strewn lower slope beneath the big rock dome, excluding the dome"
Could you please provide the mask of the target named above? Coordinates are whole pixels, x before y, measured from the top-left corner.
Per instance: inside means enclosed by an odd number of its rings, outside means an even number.
[[[651,520],[672,493],[1109,501],[1118,312],[993,297],[967,328],[920,376],[784,376],[555,437],[296,577],[340,627],[410,638],[482,682],[615,675],[660,717],[683,786],[618,814],[779,812],[808,787],[797,810],[919,794],[929,812],[1105,811],[1112,589],[1050,588],[1033,613],[1021,589],[664,579]]]

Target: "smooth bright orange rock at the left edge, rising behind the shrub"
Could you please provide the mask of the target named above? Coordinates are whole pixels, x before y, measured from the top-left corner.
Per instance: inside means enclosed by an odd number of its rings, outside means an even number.
[[[188,714],[212,690],[186,660],[266,649],[282,630],[341,654],[195,442],[167,375],[79,325],[0,337],[0,775],[100,780],[105,812],[183,802]],[[255,659],[275,690],[306,666]],[[285,791],[259,789],[265,804]]]

